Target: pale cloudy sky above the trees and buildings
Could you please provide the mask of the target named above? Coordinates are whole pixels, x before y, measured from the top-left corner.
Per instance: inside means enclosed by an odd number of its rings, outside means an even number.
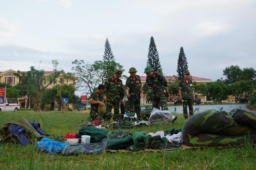
[[[151,36],[166,76],[177,75],[180,47],[190,75],[225,78],[231,65],[255,68],[255,0],[0,0],[0,71],[66,72],[75,59],[102,60],[108,38],[129,75],[146,76]],[[40,62],[41,61],[41,62]]]

